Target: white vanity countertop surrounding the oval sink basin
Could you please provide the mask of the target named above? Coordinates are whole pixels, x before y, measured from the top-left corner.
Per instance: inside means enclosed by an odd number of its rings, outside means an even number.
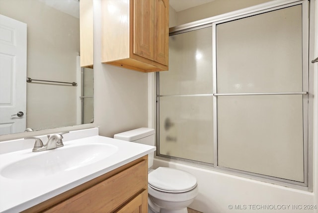
[[[95,128],[93,130],[93,134],[96,132],[98,134],[98,130],[96,131]],[[79,131],[80,130],[77,132]],[[75,133],[71,134],[71,132],[69,134],[75,135]],[[23,158],[28,158],[39,152],[32,152],[32,147],[14,152],[12,152],[12,150],[10,150],[10,152],[2,152],[2,154],[0,154],[0,213],[21,212],[26,210],[156,150],[156,147],[154,146],[127,142],[99,135],[85,135],[87,137],[79,139],[72,139],[72,136],[68,136],[67,138],[67,134],[63,136],[65,138],[64,147],[57,149],[68,148],[72,146],[72,144],[106,143],[117,146],[118,150],[115,154],[94,162],[93,164],[45,177],[24,180],[3,177],[1,171],[14,161],[14,159],[12,159],[14,156],[22,155]],[[78,135],[73,138],[77,137]],[[21,143],[20,140],[18,140],[18,142]],[[45,140],[43,142],[45,143]],[[6,142],[0,142],[0,145],[2,145],[2,147],[0,146],[0,149],[2,149],[2,151],[3,144],[5,143]],[[33,143],[34,142],[32,142],[32,144]],[[45,152],[53,153],[57,149],[43,151],[41,154],[45,154]],[[80,153],[70,153],[70,158],[72,158],[73,154]]]

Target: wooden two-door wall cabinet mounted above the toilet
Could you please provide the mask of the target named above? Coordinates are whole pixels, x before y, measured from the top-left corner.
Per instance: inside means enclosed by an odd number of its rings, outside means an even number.
[[[102,63],[168,70],[169,1],[102,0]]]

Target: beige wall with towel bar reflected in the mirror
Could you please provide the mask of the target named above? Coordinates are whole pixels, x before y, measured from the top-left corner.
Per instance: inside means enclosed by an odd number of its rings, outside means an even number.
[[[0,14],[27,24],[27,77],[76,81],[79,19],[40,1],[0,0]],[[76,124],[76,87],[27,83],[27,127]]]

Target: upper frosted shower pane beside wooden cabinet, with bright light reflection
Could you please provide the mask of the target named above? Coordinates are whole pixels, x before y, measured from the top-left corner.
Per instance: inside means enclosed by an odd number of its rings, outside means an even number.
[[[169,71],[159,82],[160,95],[212,93],[212,27],[169,36]]]

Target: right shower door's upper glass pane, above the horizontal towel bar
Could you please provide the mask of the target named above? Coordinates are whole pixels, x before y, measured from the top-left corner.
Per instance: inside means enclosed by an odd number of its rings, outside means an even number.
[[[302,5],[216,25],[217,93],[303,91]]]

